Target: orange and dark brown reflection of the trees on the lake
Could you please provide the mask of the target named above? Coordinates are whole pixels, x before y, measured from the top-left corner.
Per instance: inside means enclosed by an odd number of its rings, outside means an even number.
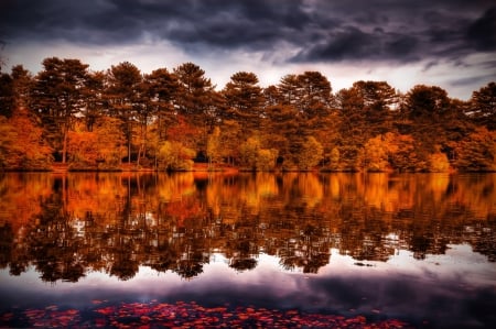
[[[442,254],[449,243],[470,243],[494,262],[495,180],[265,174],[213,176],[198,189],[191,175],[43,177],[33,190],[50,183],[52,193],[23,205],[37,212],[20,222],[9,212],[0,226],[0,266],[19,275],[34,265],[46,282],[76,282],[89,271],[129,279],[140,265],[191,278],[212,253],[242,272],[265,252],[285,270],[316,273],[331,249],[384,262],[398,250],[419,260]]]

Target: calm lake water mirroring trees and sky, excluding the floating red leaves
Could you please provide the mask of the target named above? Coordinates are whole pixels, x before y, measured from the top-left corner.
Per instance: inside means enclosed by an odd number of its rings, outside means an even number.
[[[496,328],[495,232],[495,174],[3,174],[0,327],[184,301]]]

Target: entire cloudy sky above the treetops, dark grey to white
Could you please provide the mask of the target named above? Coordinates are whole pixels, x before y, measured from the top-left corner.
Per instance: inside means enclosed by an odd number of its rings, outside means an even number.
[[[317,70],[334,92],[358,80],[423,84],[470,99],[496,80],[494,0],[0,0],[2,72],[46,57],[142,73],[192,62],[217,89]]]

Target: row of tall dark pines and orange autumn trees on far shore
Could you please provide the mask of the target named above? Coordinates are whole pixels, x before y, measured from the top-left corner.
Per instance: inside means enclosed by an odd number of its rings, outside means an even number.
[[[48,57],[0,70],[0,171],[496,171],[496,83],[470,100],[319,72],[219,89],[194,63],[143,74]]]

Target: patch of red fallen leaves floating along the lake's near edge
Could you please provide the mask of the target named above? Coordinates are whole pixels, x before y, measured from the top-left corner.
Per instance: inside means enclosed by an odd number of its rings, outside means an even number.
[[[0,327],[29,321],[32,328],[409,328],[399,319],[367,320],[365,316],[312,314],[296,309],[279,310],[256,306],[229,305],[208,307],[197,303],[176,301],[121,303],[101,307],[98,299],[93,312],[60,310],[56,305],[0,314]],[[381,312],[374,309],[373,312]]]

